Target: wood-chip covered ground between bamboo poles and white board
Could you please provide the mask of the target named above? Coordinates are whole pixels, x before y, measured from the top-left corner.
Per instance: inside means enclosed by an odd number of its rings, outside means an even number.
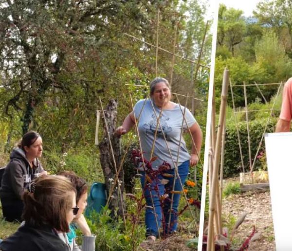
[[[253,226],[260,238],[250,243],[249,251],[274,251],[274,226],[271,208],[270,191],[246,192],[230,195],[223,199],[222,214],[225,224],[232,226],[239,215],[249,212],[244,222],[236,230],[233,238],[233,249],[237,250],[252,233]],[[233,223],[233,224],[231,224]],[[232,227],[231,227],[232,228]]]

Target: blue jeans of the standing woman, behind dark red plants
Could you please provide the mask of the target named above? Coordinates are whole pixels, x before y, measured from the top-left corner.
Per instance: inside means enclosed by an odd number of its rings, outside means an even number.
[[[179,167],[179,176],[181,178],[182,184],[188,175],[189,171],[189,161],[183,162]],[[166,174],[175,175],[175,169],[170,169],[164,171]],[[173,179],[174,177],[164,177],[161,174],[158,175],[156,179],[152,179],[151,184],[145,183],[145,172],[141,172],[141,184],[144,187],[144,196],[146,199],[146,213],[145,213],[145,223],[146,223],[146,235],[154,235],[158,236],[159,228],[163,227],[163,233],[169,234],[173,233],[177,229],[177,218],[178,218],[178,207],[180,202],[181,194],[173,194],[173,204],[172,204],[172,211],[170,214],[170,207],[171,207],[171,197],[172,194],[170,193],[173,189]],[[167,179],[169,182],[167,184],[162,184],[162,179]],[[180,180],[178,177],[175,180],[174,191],[182,191],[183,187],[181,185]],[[162,200],[162,196],[167,196],[164,200]],[[152,197],[152,199],[151,199]],[[153,203],[152,203],[153,200]],[[155,208],[156,218],[153,210],[153,204]],[[168,226],[169,222],[169,215],[171,215],[170,225]],[[158,229],[157,229],[158,225]]]

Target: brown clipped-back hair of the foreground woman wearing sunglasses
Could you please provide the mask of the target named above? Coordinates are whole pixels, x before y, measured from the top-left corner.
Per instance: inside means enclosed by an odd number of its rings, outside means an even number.
[[[35,179],[35,189],[23,193],[22,217],[32,226],[50,225],[57,231],[69,232],[67,213],[72,208],[75,188],[64,176],[40,176]]]

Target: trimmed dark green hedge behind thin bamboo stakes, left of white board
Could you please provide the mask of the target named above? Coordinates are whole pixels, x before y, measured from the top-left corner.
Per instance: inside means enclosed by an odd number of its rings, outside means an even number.
[[[257,147],[262,137],[264,128],[268,119],[253,120],[249,122],[250,142],[252,161],[254,161]],[[276,123],[276,118],[271,118],[268,124],[266,133],[273,132],[273,127]],[[246,122],[238,122],[238,129],[241,141],[241,149],[243,154],[243,163],[245,171],[249,171],[249,154],[248,154],[248,137]],[[264,151],[265,142],[263,139],[260,151]],[[260,152],[259,151],[259,152]],[[260,161],[256,160],[254,170],[261,167]],[[242,172],[240,151],[237,139],[237,129],[234,121],[226,122],[226,138],[224,151],[224,177],[232,177]]]

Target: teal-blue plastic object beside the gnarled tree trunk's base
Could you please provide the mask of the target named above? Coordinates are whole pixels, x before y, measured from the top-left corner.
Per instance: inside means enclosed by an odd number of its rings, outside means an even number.
[[[99,213],[107,204],[107,190],[106,184],[100,182],[94,182],[91,185],[90,193],[87,198],[87,208],[85,211],[85,215],[87,217],[90,216],[91,211],[95,211]]]

